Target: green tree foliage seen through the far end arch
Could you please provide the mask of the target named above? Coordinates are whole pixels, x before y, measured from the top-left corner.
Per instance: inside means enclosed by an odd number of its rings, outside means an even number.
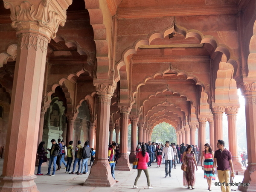
[[[151,139],[152,142],[156,143],[165,143],[166,141],[177,143],[175,128],[166,122],[162,122],[154,127]]]

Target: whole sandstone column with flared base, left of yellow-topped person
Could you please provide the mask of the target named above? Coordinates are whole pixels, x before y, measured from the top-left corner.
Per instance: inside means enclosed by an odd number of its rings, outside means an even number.
[[[96,129],[96,156],[85,186],[111,187],[115,183],[108,163],[108,131],[111,97],[116,85],[95,84],[98,95],[98,119]]]

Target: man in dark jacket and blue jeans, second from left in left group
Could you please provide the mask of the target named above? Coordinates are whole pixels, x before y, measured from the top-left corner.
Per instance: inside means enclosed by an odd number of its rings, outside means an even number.
[[[52,142],[51,149],[47,148],[47,150],[50,151],[51,156],[49,159],[48,173],[45,175],[54,176],[55,175],[55,164],[56,164],[57,156],[58,156],[58,153],[60,150],[60,146],[56,143],[55,139],[52,139],[51,142]],[[52,163],[53,163],[53,169],[52,169],[52,175],[51,175]]]

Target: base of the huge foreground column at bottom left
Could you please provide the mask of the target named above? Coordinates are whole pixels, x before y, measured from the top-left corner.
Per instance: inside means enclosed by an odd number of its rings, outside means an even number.
[[[34,179],[36,175],[24,177],[0,176],[0,192],[39,192]]]

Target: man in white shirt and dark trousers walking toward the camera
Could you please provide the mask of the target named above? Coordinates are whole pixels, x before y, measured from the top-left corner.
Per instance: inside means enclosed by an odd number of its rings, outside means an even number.
[[[162,158],[164,156],[164,160],[165,160],[165,165],[166,165],[166,176],[169,174],[170,177],[172,177],[171,175],[171,170],[172,170],[172,162],[174,161],[174,154],[173,154],[173,149],[172,147],[169,145],[169,141],[166,141],[166,147],[163,148],[163,152],[162,152]],[[168,163],[169,163],[169,172],[168,172]]]

